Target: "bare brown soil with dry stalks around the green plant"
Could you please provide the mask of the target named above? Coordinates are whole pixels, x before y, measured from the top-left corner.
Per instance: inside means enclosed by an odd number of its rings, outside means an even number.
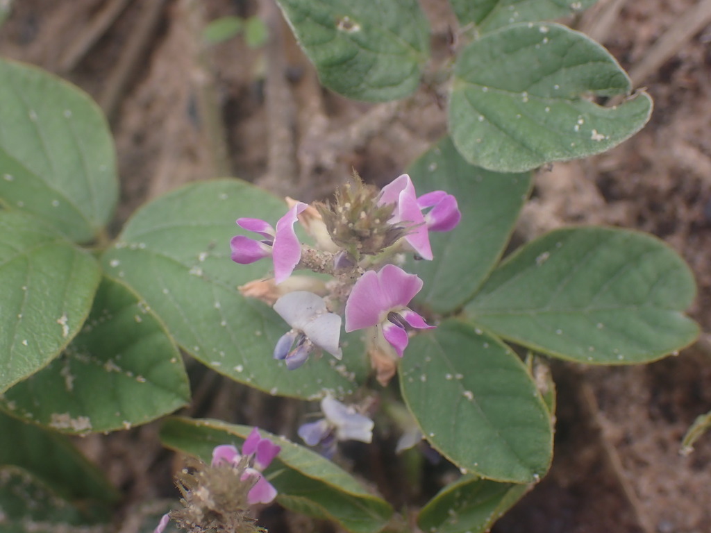
[[[436,41],[444,41],[446,4],[422,3]],[[383,183],[444,132],[442,109],[426,95],[408,112],[320,90],[267,1],[17,4],[0,32],[0,54],[68,77],[112,119],[122,179],[117,228],[147,199],[191,180],[239,176],[303,200],[330,192],[351,168]],[[201,44],[205,21],[257,13],[271,30],[262,50],[240,39],[210,49]],[[574,22],[611,50],[636,87],[648,87],[655,112],[646,129],[609,153],[540,173],[519,225],[522,237],[573,222],[662,237],[695,272],[700,293],[691,313],[705,332],[711,329],[710,13],[708,0],[601,0]],[[705,334],[679,357],[645,367],[555,365],[554,467],[495,531],[711,531],[711,435],[690,456],[679,453],[695,416],[711,409],[710,346]],[[215,382],[219,392],[208,394]],[[209,375],[196,378],[193,391],[195,416],[245,422],[277,411],[278,427],[296,409]],[[247,407],[226,407],[234,405]],[[127,491],[127,510],[171,495],[171,465],[155,424],[87,438],[82,446]],[[368,477],[382,481],[373,461]],[[381,490],[397,494],[397,487]],[[281,512],[264,518],[274,531],[314,527]],[[331,529],[321,524],[321,530]],[[129,524],[124,531],[132,531]]]

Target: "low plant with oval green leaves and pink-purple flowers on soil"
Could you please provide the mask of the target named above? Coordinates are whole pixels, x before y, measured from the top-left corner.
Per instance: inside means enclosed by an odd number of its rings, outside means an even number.
[[[366,4],[279,0],[324,85],[373,102],[410,95],[429,78],[419,4]],[[1,61],[0,124],[13,133],[0,139],[3,519],[109,522],[117,490],[58,433],[130,429],[185,406],[185,354],[266,394],[319,400],[323,417],[290,421],[306,446],[163,421],[161,442],[193,458],[174,523],[260,531],[251,508],[274,501],[351,532],[404,527],[329,460],[348,456],[343,441],[400,433],[398,450],[424,439],[461,473],[417,527],[483,532],[550,466],[555,387],[541,356],[636,364],[693,342],[693,277],[658,239],[575,227],[503,257],[531,170],[609,149],[651,111],[643,92],[594,102],[631,85],[604,48],[544,22],[568,6],[518,4],[451,0],[459,48],[426,80],[447,99],[449,136],[382,190],[355,178],[307,205],[236,179],[194,183],[113,239],[105,117],[75,87]]]

